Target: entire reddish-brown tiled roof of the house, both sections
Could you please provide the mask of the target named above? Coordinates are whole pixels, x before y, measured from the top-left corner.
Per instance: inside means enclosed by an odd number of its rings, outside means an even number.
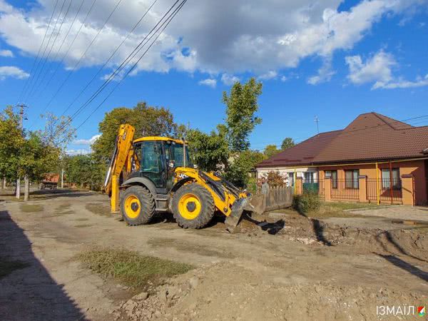
[[[363,113],[345,129],[320,133],[256,167],[322,165],[427,157],[428,126],[414,127],[379,113]]]

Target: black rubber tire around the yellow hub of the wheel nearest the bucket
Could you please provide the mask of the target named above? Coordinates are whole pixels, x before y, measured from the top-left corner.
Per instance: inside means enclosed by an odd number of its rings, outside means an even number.
[[[198,215],[194,218],[186,218],[185,213],[180,213],[180,200],[183,202],[183,198],[188,197],[188,195],[193,195],[200,204]],[[214,211],[213,196],[203,186],[196,183],[183,185],[173,195],[173,215],[181,228],[204,228],[213,219]]]

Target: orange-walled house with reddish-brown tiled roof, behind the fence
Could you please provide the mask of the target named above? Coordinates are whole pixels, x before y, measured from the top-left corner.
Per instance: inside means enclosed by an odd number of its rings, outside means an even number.
[[[317,134],[256,169],[259,177],[276,170],[290,185],[297,180],[303,188],[315,185],[329,200],[424,205],[428,203],[428,126],[364,113],[346,128]]]

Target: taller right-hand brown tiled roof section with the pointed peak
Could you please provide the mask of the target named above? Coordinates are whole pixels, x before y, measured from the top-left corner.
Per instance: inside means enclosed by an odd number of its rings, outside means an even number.
[[[313,163],[417,158],[428,147],[428,126],[414,127],[378,113],[355,118]]]

